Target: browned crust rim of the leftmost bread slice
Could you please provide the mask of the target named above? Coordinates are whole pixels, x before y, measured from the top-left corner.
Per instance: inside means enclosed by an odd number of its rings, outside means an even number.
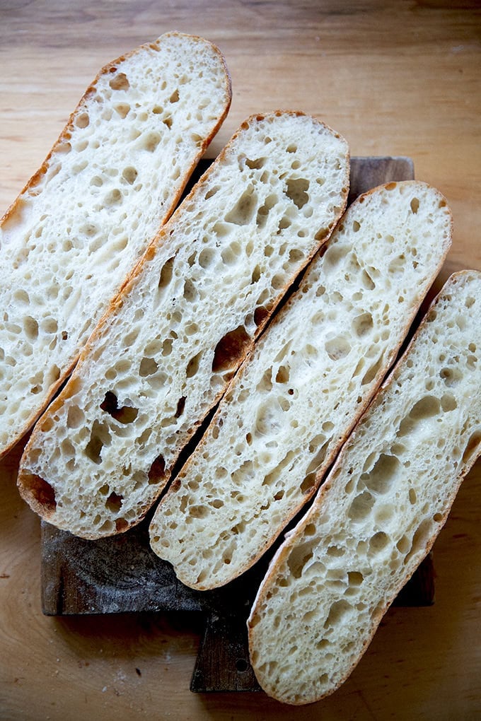
[[[187,35],[186,33],[182,33],[182,32],[166,32],[166,33],[164,33],[164,35],[161,35],[158,38],[158,40],[156,40],[152,43],[144,43],[143,45],[139,45],[138,48],[134,48],[134,50],[131,50],[129,53],[125,53],[124,55],[120,56],[119,58],[116,58],[115,60],[111,61],[110,63],[107,63],[107,65],[103,66],[100,69],[100,71],[97,73],[97,75],[95,76],[92,83],[89,85],[87,90],[82,95],[81,99],[77,103],[73,112],[71,112],[71,114],[69,115],[69,119],[67,120],[67,123],[66,123],[65,127],[63,128],[63,131],[61,131],[60,136],[58,136],[58,139],[53,144],[48,155],[46,156],[45,160],[43,161],[43,164],[35,172],[35,174],[33,174],[32,177],[30,177],[30,180],[27,181],[25,186],[20,191],[19,195],[17,195],[17,198],[15,198],[15,200],[9,206],[9,208],[7,208],[4,215],[0,218],[0,226],[2,224],[4,224],[4,222],[7,221],[9,219],[9,217],[16,211],[17,205],[19,203],[19,200],[22,198],[22,195],[24,195],[24,193],[26,193],[28,190],[30,190],[30,188],[35,187],[35,185],[37,185],[40,182],[40,179],[43,177],[43,175],[45,175],[45,173],[48,170],[50,158],[52,157],[54,151],[56,151],[57,147],[59,145],[61,145],[61,143],[63,143],[64,141],[69,141],[69,138],[71,137],[70,131],[71,131],[71,128],[73,128],[73,126],[74,126],[74,120],[77,117],[77,115],[79,115],[79,113],[82,110],[84,110],[85,103],[87,102],[89,97],[95,92],[95,88],[97,86],[97,83],[98,83],[100,77],[102,77],[103,75],[106,75],[107,73],[110,73],[112,68],[115,68],[115,66],[117,66],[118,63],[122,63],[127,58],[131,58],[132,56],[135,56],[141,50],[144,50],[145,48],[154,48],[156,43],[158,43],[159,41],[162,41],[163,37],[172,37],[172,36],[190,37],[190,39],[194,40],[195,42],[203,42],[203,43],[208,43],[209,45],[211,45],[211,48],[219,56],[219,59],[221,60],[221,65],[224,68],[224,77],[226,80],[227,102],[226,102],[226,105],[224,106],[223,112],[221,113],[221,115],[219,115],[219,120],[216,123],[216,125],[214,126],[210,135],[206,136],[206,138],[203,138],[202,143],[199,145],[198,153],[195,155],[195,159],[193,160],[192,164],[190,164],[190,167],[188,167],[185,170],[182,185],[179,186],[179,190],[176,193],[176,195],[174,197],[172,197],[172,202],[170,203],[170,205],[168,205],[165,208],[164,216],[160,220],[160,226],[163,226],[167,222],[169,217],[172,216],[173,211],[175,211],[175,208],[176,208],[177,204],[179,203],[180,197],[185,189],[185,185],[187,185],[187,182],[189,181],[189,178],[192,175],[195,167],[197,166],[200,158],[206,152],[206,149],[212,142],[213,138],[216,136],[216,133],[218,133],[219,128],[221,127],[222,123],[224,123],[226,115],[229,112],[229,108],[231,106],[231,100],[232,100],[231,75],[229,73],[229,69],[227,68],[226,60],[225,60],[223,54],[221,53],[221,51],[219,50],[219,48],[217,48],[216,45],[213,45],[213,43],[211,43],[209,40],[204,40],[203,37],[200,37],[198,35]],[[134,264],[133,270],[135,269],[136,265],[137,265],[137,263]],[[123,279],[123,282],[119,286],[118,292],[120,292],[122,290],[123,286],[125,286],[125,283],[128,282],[128,278],[130,277],[130,275],[131,275],[131,273],[128,273],[128,275],[126,275],[126,277]],[[15,438],[13,438],[12,441],[9,443],[9,445],[6,446],[5,448],[3,448],[3,450],[0,449],[0,459],[4,458],[4,456],[6,456],[6,454],[9,454],[9,452],[12,451],[12,448],[14,448],[14,446],[19,442],[19,440],[22,438],[22,436],[24,436],[25,433],[27,433],[27,431],[30,430],[30,428],[32,428],[32,425],[34,425],[36,423],[36,421],[40,418],[40,416],[43,414],[45,409],[50,404],[50,401],[55,396],[58,389],[61,387],[61,385],[66,381],[66,379],[70,376],[71,372],[74,370],[76,363],[79,360],[79,355],[80,355],[80,353],[77,354],[76,357],[72,359],[69,366],[66,366],[66,368],[63,369],[63,372],[59,376],[58,380],[50,386],[50,393],[48,394],[47,397],[45,397],[45,401],[43,402],[43,404],[38,408],[37,411],[33,412],[32,415],[30,415],[30,417],[27,418],[27,420],[25,421],[21,430],[19,430],[19,433],[17,433],[17,436]]]

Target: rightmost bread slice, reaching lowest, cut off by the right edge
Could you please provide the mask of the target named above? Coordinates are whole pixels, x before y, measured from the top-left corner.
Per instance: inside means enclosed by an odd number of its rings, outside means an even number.
[[[248,622],[270,696],[335,691],[444,525],[481,451],[480,306],[481,273],[452,275],[275,554]]]

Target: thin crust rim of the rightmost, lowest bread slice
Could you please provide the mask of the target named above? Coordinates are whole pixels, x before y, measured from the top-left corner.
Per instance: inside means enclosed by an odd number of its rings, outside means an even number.
[[[453,273],[452,275],[450,275],[449,278],[448,278],[448,280],[446,280],[446,283],[445,283],[444,287],[441,288],[441,291],[438,293],[438,295],[436,296],[436,298],[433,299],[433,301],[432,301],[431,305],[429,306],[428,311],[426,312],[425,316],[423,317],[423,320],[421,321],[418,329],[415,331],[415,334],[412,336],[412,339],[410,340],[410,343],[407,345],[407,348],[406,348],[406,350],[405,350],[405,353],[403,353],[403,355],[402,355],[402,357],[400,358],[400,360],[396,363],[396,365],[395,365],[394,368],[392,369],[392,373],[389,374],[389,376],[387,377],[387,379],[385,379],[384,382],[383,382],[383,383],[381,384],[381,386],[379,387],[378,392],[376,393],[376,395],[374,396],[374,399],[372,400],[372,404],[373,404],[373,405],[378,401],[381,392],[384,393],[385,391],[387,391],[387,389],[389,389],[389,386],[390,386],[390,385],[395,381],[395,379],[397,378],[397,373],[399,373],[400,368],[402,368],[402,367],[404,366],[404,364],[406,363],[407,359],[409,358],[411,347],[412,347],[413,343],[415,343],[415,340],[417,339],[418,335],[420,334],[420,332],[422,331],[423,327],[425,326],[425,324],[426,324],[426,322],[427,322],[428,314],[431,312],[431,310],[433,309],[433,307],[436,306],[436,303],[438,302],[438,299],[442,298],[442,297],[444,296],[444,294],[448,292],[449,285],[451,285],[451,283],[456,282],[457,278],[459,278],[459,277],[462,276],[462,275],[466,275],[466,274],[468,274],[468,273],[470,273],[470,271],[468,271],[468,270],[460,270],[460,271],[458,271],[458,272]],[[260,583],[260,586],[259,586],[259,588],[258,588],[258,590],[257,590],[257,594],[256,594],[256,596],[255,596],[255,599],[254,599],[253,603],[252,603],[252,607],[251,607],[251,610],[250,610],[249,617],[248,617],[248,619],[247,619],[247,634],[248,634],[248,642],[249,642],[249,653],[250,653],[250,658],[251,658],[251,659],[252,659],[252,651],[254,650],[254,649],[253,649],[253,640],[252,640],[252,636],[253,636],[253,634],[252,634],[252,622],[253,622],[253,620],[255,619],[256,608],[257,608],[257,606],[258,606],[260,603],[262,603],[262,601],[265,600],[265,596],[267,595],[267,593],[268,593],[268,588],[269,588],[269,586],[270,586],[270,581],[273,579],[273,577],[274,577],[274,575],[275,575],[275,572],[276,572],[276,570],[277,570],[278,565],[280,565],[280,564],[284,561],[284,559],[286,559],[286,557],[288,557],[288,554],[289,554],[289,552],[290,552],[291,547],[294,545],[294,543],[295,543],[296,541],[299,540],[299,538],[301,538],[301,536],[302,536],[302,534],[303,534],[303,531],[304,531],[304,528],[306,528],[306,526],[308,525],[308,523],[311,521],[312,517],[315,516],[317,510],[322,506],[322,502],[323,502],[323,500],[324,500],[324,497],[325,497],[325,495],[327,494],[327,492],[328,492],[328,491],[330,490],[330,488],[331,488],[331,481],[330,481],[330,479],[335,476],[335,472],[337,471],[337,469],[339,468],[339,466],[343,463],[343,459],[344,459],[345,455],[348,453],[348,450],[349,450],[349,447],[350,447],[350,445],[351,445],[351,442],[353,442],[353,441],[355,440],[356,435],[357,435],[357,433],[356,433],[356,428],[355,428],[355,429],[353,430],[353,432],[350,434],[348,443],[345,443],[345,445],[343,446],[342,450],[340,451],[340,454],[337,456],[337,459],[336,459],[336,461],[335,461],[335,464],[332,466],[331,472],[330,472],[329,476],[327,477],[327,480],[326,480],[325,484],[322,485],[322,487],[319,489],[319,492],[317,493],[317,496],[316,496],[315,499],[314,499],[314,503],[312,504],[312,507],[307,511],[307,513],[305,514],[305,516],[303,516],[303,517],[301,518],[301,520],[297,523],[297,525],[296,525],[291,531],[289,531],[289,532],[286,534],[283,543],[282,543],[281,546],[277,549],[277,551],[275,552],[273,558],[270,560],[268,570],[267,570],[264,578],[262,579],[262,582]],[[434,534],[432,534],[427,541],[425,541],[425,549],[424,549],[424,552],[423,552],[423,556],[420,557],[419,562],[418,562],[418,565],[417,565],[416,567],[418,567],[418,566],[420,565],[420,563],[423,561],[423,559],[425,559],[425,557],[426,557],[426,556],[428,555],[428,553],[431,551],[431,549],[432,549],[432,547],[433,547],[433,544],[434,544],[434,541],[436,541],[436,538],[438,537],[441,529],[443,528],[444,524],[446,523],[446,520],[447,520],[447,518],[448,518],[448,516],[449,516],[449,513],[450,513],[450,511],[451,511],[452,505],[453,505],[453,503],[454,503],[454,500],[456,499],[456,494],[457,494],[457,492],[459,491],[459,488],[461,487],[464,478],[467,476],[467,474],[469,473],[470,469],[472,469],[472,466],[475,464],[475,461],[476,461],[477,458],[480,456],[480,454],[481,454],[481,447],[480,447],[480,452],[479,452],[478,454],[473,454],[473,455],[472,455],[472,457],[469,459],[469,462],[466,464],[466,466],[464,466],[464,467],[462,468],[462,472],[460,472],[459,475],[457,476],[456,482],[454,483],[454,487],[453,487],[453,490],[452,490],[451,503],[449,503],[449,505],[447,505],[446,510],[445,510],[445,512],[444,512],[444,515],[442,516],[442,518],[441,518],[440,521],[438,522],[439,525],[438,525],[438,528],[436,528],[436,532],[435,532]],[[306,701],[299,701],[299,702],[291,702],[291,701],[289,701],[289,702],[287,702],[287,703],[289,703],[289,704],[291,704],[291,705],[299,705],[299,706],[300,706],[300,705],[304,705],[304,704],[309,704],[309,703],[314,703],[314,702],[320,701],[321,699],[324,699],[324,698],[326,698],[327,696],[330,696],[331,694],[333,694],[335,691],[337,691],[337,689],[340,688],[340,686],[342,686],[342,685],[345,683],[345,681],[347,680],[347,678],[348,678],[348,677],[350,676],[350,674],[353,672],[354,668],[356,668],[356,666],[357,666],[358,663],[360,662],[360,660],[361,660],[361,658],[363,657],[364,653],[366,653],[366,650],[367,650],[367,648],[369,647],[372,639],[374,638],[374,634],[376,634],[376,630],[378,629],[379,624],[380,624],[383,616],[387,613],[387,610],[389,609],[389,606],[392,605],[392,603],[393,603],[393,601],[395,600],[395,598],[397,597],[398,593],[400,593],[400,590],[405,586],[405,584],[407,583],[407,581],[411,578],[412,573],[415,572],[415,570],[416,570],[416,567],[414,567],[414,568],[412,568],[411,570],[409,570],[409,572],[405,573],[405,575],[400,576],[396,587],[395,587],[394,590],[392,591],[391,596],[389,596],[389,597],[386,599],[386,601],[384,602],[383,606],[381,606],[381,608],[379,608],[379,610],[376,611],[376,614],[371,617],[372,622],[371,622],[371,629],[370,629],[369,635],[366,636],[366,641],[365,641],[364,644],[363,644],[363,647],[362,647],[362,649],[361,649],[361,652],[359,653],[359,655],[358,655],[358,657],[356,658],[356,660],[354,660],[353,663],[350,665],[350,668],[348,668],[348,671],[346,671],[346,673],[345,673],[345,675],[343,676],[343,678],[341,678],[340,681],[338,681],[337,684],[335,684],[335,686],[333,686],[332,689],[330,689],[330,691],[327,691],[327,693],[325,693],[325,694],[321,694],[320,696],[316,696],[316,697],[313,698],[313,699],[306,699]],[[256,673],[255,665],[253,665],[252,668],[253,668],[254,673]],[[257,678],[257,674],[256,674],[256,678]],[[273,694],[268,694],[268,695],[273,695]],[[273,697],[277,698],[277,696],[273,696]],[[278,698],[278,700],[283,701],[283,699],[281,699],[281,698]],[[283,701],[283,702],[286,703],[286,701]]]

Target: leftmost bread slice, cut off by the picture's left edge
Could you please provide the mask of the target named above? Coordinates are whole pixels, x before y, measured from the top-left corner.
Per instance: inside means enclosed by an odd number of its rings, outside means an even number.
[[[102,68],[0,226],[0,456],[68,376],[224,120],[229,72],[167,33]]]

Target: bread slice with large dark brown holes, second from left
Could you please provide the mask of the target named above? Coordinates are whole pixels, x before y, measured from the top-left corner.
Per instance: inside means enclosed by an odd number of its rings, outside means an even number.
[[[137,523],[348,195],[348,146],[297,112],[242,124],[151,245],[19,469],[85,538]]]

